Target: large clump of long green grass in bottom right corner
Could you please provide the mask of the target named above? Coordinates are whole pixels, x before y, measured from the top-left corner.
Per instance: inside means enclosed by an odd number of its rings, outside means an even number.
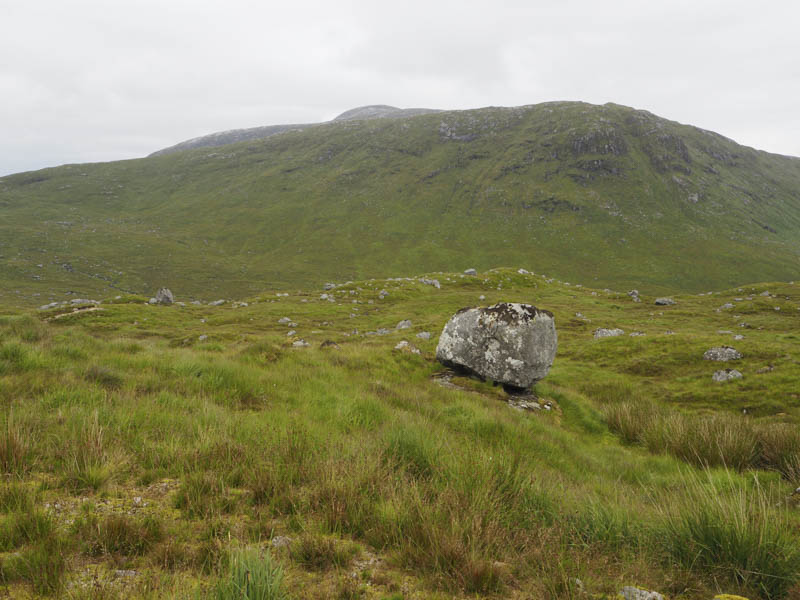
[[[757,479],[734,486],[728,478],[723,486],[685,476],[685,496],[661,503],[658,538],[683,568],[781,598],[800,579],[790,516]]]

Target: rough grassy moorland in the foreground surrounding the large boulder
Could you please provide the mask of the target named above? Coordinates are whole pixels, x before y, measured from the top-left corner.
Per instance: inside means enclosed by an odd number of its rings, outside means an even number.
[[[513,270],[433,276],[335,302],[4,311],[4,592],[800,597],[798,285],[662,307]],[[447,318],[499,300],[555,314],[549,409],[441,377]],[[743,358],[703,360],[721,344]],[[743,377],[712,382],[725,366]]]

